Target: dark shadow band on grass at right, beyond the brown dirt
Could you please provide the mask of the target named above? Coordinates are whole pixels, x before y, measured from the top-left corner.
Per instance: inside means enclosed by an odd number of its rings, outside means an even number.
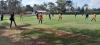
[[[78,28],[65,28],[65,27],[60,27],[57,28],[58,30],[64,30],[66,32],[73,32],[75,34],[82,34],[82,35],[88,35],[92,37],[100,37],[100,30],[95,29],[95,30],[90,30],[90,29],[78,29]]]

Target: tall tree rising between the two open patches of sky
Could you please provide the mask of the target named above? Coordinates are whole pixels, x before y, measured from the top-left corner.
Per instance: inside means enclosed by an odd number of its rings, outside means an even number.
[[[68,7],[69,11],[73,7],[73,2],[71,0],[57,0],[57,7],[59,12],[66,12],[66,7]]]

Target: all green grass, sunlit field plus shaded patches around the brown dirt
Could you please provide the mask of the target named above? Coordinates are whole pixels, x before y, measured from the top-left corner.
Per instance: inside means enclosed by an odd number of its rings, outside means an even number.
[[[74,34],[81,34],[81,35],[87,35],[91,37],[96,37],[97,40],[100,40],[100,15],[97,15],[97,21],[91,22],[91,17],[89,19],[85,20],[85,16],[78,15],[76,18],[74,15],[63,15],[63,20],[58,21],[58,16],[55,15],[52,17],[52,20],[49,20],[48,16],[44,16],[43,24],[38,24],[38,20],[36,19],[36,16],[23,16],[23,21],[20,20],[19,16],[16,16],[16,23],[18,26],[26,25],[27,28],[30,28],[31,30],[34,30],[34,28],[50,28],[50,29],[56,29],[56,30],[63,30],[65,32],[72,32]],[[0,22],[1,26],[9,27],[9,16],[5,16],[5,20]],[[49,30],[49,29],[48,29]],[[38,33],[38,32],[29,32],[28,34],[31,35],[39,35],[44,36],[44,33]],[[46,34],[45,36],[50,41],[60,41],[63,45],[80,45],[77,43],[78,41],[75,40],[65,40],[60,38],[55,38],[51,35]],[[75,43],[75,44],[73,44]],[[83,45],[99,45],[98,42],[91,42],[87,41]]]

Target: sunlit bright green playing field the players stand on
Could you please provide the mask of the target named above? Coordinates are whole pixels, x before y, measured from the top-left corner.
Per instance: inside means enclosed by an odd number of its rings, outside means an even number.
[[[58,21],[58,16],[52,17],[49,20],[48,16],[44,16],[43,24],[39,24],[36,16],[23,16],[23,20],[19,16],[15,16],[17,25],[31,24],[31,26],[37,27],[47,27],[47,28],[77,28],[77,29],[90,29],[90,30],[100,30],[100,16],[97,16],[97,21],[91,22],[92,16],[85,20],[85,16],[79,15],[75,18],[74,15],[63,15],[63,20]],[[2,21],[1,25],[4,23],[9,24],[9,16],[5,16],[5,20]],[[7,25],[4,24],[4,25]]]

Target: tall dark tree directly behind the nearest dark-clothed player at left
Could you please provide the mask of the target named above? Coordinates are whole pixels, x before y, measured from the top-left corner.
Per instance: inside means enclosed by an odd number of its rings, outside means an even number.
[[[22,0],[7,0],[9,12],[20,12]]]

